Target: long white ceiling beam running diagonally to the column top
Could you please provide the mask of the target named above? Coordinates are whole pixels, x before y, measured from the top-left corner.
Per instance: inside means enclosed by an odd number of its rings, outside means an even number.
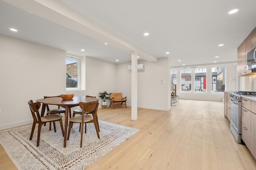
[[[157,58],[148,54],[143,49],[136,47],[132,43],[124,40],[120,36],[110,32],[106,28],[100,26],[96,22],[86,18],[82,14],[74,11],[65,4],[56,0],[3,0],[4,2],[32,12],[46,20],[50,20],[56,24],[79,32],[85,36],[98,40],[102,43],[107,42],[108,45],[132,53],[136,51],[141,59],[150,62],[156,62]]]

